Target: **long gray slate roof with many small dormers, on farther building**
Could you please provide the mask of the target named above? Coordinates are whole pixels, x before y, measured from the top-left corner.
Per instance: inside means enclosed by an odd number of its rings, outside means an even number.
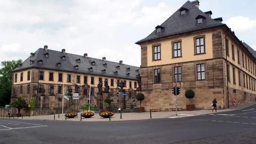
[[[49,58],[47,58],[44,54],[48,53]],[[62,60],[62,56],[66,57],[66,60]],[[76,60],[80,59],[80,63],[78,63]],[[34,60],[34,63],[30,64],[30,60]],[[42,64],[39,64],[38,60],[42,60]],[[95,65],[93,65],[91,62],[95,62]],[[57,66],[57,63],[61,63],[61,67]],[[103,66],[103,64],[107,63],[107,67]],[[79,69],[76,69],[74,66],[78,65]],[[120,66],[119,69],[116,68],[116,66]],[[62,52],[50,50],[48,49],[45,51],[45,49],[39,48],[33,57],[27,58],[20,67],[17,67],[13,70],[19,71],[22,69],[28,69],[28,68],[43,68],[43,69],[54,69],[59,71],[68,71],[68,72],[79,72],[84,74],[90,74],[90,75],[102,75],[102,76],[109,76],[109,77],[115,77],[115,78],[125,78],[125,79],[134,79],[136,80],[136,75],[138,75],[140,71],[140,67],[137,66],[130,66],[126,64],[120,64],[112,61],[104,61],[102,59],[96,59],[96,58],[85,58],[81,55],[75,55],[70,53],[63,54]],[[93,68],[93,72],[90,72],[89,68]],[[127,69],[130,68],[130,71],[127,71]],[[106,73],[102,73],[102,70],[106,70]],[[136,70],[139,71],[136,71]],[[118,75],[116,75],[114,72],[118,72]],[[130,73],[128,76],[127,74]]]

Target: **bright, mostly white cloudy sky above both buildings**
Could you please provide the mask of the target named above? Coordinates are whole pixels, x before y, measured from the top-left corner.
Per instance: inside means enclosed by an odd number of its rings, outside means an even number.
[[[140,66],[140,46],[187,0],[0,0],[0,61],[49,49]],[[254,0],[199,0],[256,50]],[[224,2],[223,2],[224,1]]]

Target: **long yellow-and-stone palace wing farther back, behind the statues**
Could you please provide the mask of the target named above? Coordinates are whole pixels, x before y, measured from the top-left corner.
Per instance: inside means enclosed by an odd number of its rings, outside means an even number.
[[[36,96],[40,111],[36,115],[57,113],[58,102],[60,109],[62,102],[64,109],[71,105],[79,108],[89,103],[89,99],[90,104],[94,106],[100,81],[103,88],[107,81],[110,92],[116,91],[116,83],[120,80],[125,82],[124,89],[132,90],[138,87],[136,76],[139,73],[140,67],[123,64],[122,60],[116,63],[106,60],[105,57],[101,60],[87,57],[87,53],[84,56],[74,55],[66,53],[65,49],[55,51],[44,46],[44,49],[39,48],[31,53],[29,58],[12,71],[11,99],[23,97],[30,103],[32,96]],[[72,92],[69,89],[72,89]],[[78,105],[71,96],[74,92],[79,93]],[[69,96],[69,101],[63,99],[65,94]],[[135,98],[129,100],[131,103],[136,102]],[[116,105],[120,103],[118,97],[111,97],[111,101]],[[26,109],[22,111],[23,114],[28,114]]]

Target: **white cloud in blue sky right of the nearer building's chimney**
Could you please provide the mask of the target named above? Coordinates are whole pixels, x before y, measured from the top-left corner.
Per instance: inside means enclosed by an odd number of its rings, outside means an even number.
[[[231,17],[225,23],[231,28],[232,31],[238,33],[244,33],[245,31],[256,28],[256,20],[250,20],[249,17]]]

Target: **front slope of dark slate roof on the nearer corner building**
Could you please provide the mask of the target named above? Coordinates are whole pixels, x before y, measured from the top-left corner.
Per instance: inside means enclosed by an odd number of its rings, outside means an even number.
[[[180,9],[186,8],[188,11],[185,15],[180,14]],[[147,40],[153,40],[160,37],[166,37],[170,35],[180,34],[183,32],[190,32],[198,29],[205,29],[213,26],[224,25],[213,20],[209,17],[209,14],[205,14],[196,6],[194,6],[190,1],[187,1],[183,6],[180,7],[171,17],[169,17],[165,22],[163,22],[160,26],[163,26],[164,29],[160,33],[157,33],[156,29],[147,37],[137,42],[141,43]],[[195,19],[198,15],[206,17],[204,19],[204,23],[197,24],[197,20]]]

